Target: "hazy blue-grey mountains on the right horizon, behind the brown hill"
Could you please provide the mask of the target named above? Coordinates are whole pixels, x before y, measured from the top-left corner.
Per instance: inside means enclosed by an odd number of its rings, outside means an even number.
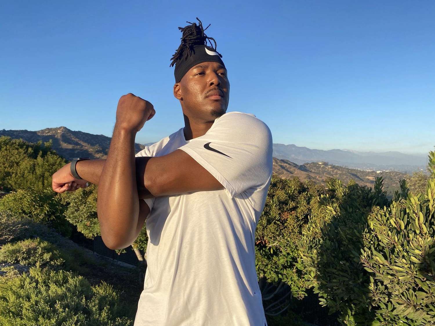
[[[355,150],[311,150],[296,145],[273,144],[273,156],[296,164],[328,162],[361,170],[412,172],[424,169],[426,155],[400,152],[357,152]]]

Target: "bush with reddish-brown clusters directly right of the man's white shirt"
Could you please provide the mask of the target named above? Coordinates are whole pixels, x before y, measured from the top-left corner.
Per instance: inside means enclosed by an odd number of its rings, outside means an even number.
[[[314,183],[302,183],[298,178],[272,178],[257,226],[255,247],[263,299],[268,301],[274,295],[278,298],[275,306],[266,306],[270,307],[270,311],[266,309],[268,314],[279,312],[283,306],[285,310],[283,300],[291,295],[305,296],[298,267],[298,241],[309,216],[317,220],[325,213],[318,200],[322,192]]]

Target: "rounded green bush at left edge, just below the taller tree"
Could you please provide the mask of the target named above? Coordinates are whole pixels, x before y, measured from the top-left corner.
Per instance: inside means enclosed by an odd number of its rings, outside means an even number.
[[[71,227],[64,219],[64,205],[60,196],[47,188],[17,190],[0,199],[0,211],[12,216],[25,216],[37,223],[47,223],[64,236],[70,236]]]

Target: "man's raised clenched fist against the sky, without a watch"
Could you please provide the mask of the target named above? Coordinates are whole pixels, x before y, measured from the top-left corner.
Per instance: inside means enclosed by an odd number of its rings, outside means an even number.
[[[116,109],[116,126],[138,132],[156,111],[154,106],[132,93],[121,96]]]

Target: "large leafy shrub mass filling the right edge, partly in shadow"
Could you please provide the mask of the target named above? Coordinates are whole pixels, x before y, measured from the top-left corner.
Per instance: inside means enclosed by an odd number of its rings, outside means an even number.
[[[386,200],[382,179],[375,189],[331,184],[322,196],[331,222],[308,223],[300,243],[307,285],[345,325],[435,323],[435,155],[424,194],[401,192]]]

